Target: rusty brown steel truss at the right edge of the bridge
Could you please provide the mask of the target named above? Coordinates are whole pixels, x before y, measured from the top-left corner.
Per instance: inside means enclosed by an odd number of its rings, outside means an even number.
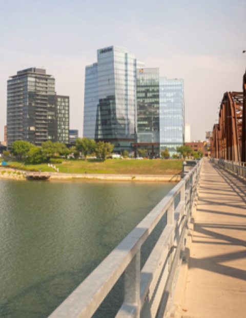
[[[246,162],[246,71],[241,92],[223,95],[219,123],[213,127],[211,157]]]

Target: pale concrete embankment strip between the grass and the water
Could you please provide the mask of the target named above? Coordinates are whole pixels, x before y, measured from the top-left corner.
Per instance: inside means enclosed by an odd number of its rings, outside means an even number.
[[[180,174],[93,174],[93,173],[51,173],[49,180],[101,180],[101,181],[141,181],[141,182],[179,182]]]

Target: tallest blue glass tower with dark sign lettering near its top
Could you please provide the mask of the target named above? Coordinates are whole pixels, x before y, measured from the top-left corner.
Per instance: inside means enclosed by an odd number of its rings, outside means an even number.
[[[125,48],[97,50],[97,63],[86,67],[84,137],[131,150],[135,137],[136,68],[144,66]]]

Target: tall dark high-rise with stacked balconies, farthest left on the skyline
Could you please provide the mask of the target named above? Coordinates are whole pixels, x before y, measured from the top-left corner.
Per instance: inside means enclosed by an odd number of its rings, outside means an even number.
[[[32,67],[10,76],[7,84],[8,149],[16,140],[36,146],[47,140],[57,141],[57,115],[66,118],[67,113],[56,113],[56,109],[55,79],[46,74],[45,69]]]

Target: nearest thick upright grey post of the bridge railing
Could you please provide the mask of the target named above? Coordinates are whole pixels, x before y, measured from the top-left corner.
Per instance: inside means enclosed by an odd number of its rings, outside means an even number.
[[[129,316],[140,317],[140,250],[137,251],[124,273],[124,304],[128,307]]]

